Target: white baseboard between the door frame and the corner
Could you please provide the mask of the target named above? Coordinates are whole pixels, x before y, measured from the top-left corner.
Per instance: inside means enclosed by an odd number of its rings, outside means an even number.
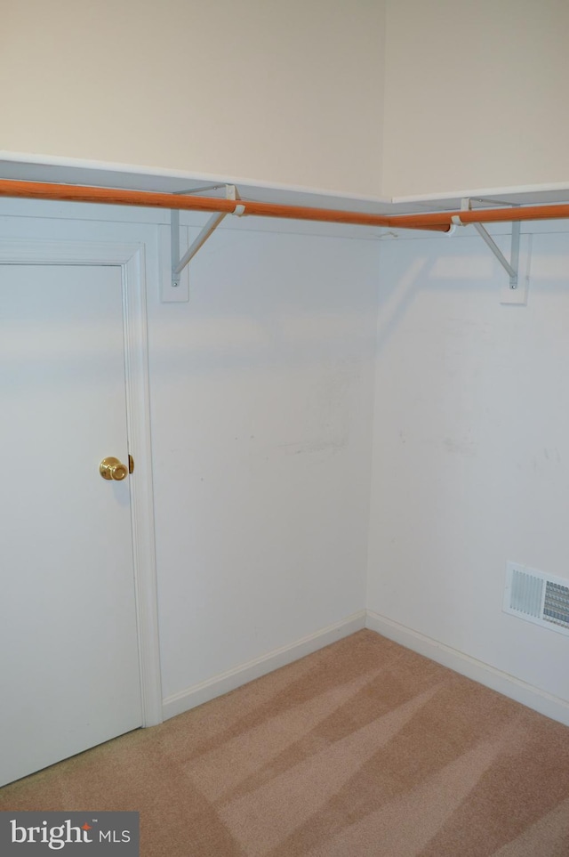
[[[235,667],[235,669],[230,669],[227,673],[214,675],[213,678],[205,682],[175,693],[173,696],[164,699],[164,720],[182,714],[184,711],[202,705],[204,702],[209,702],[210,699],[215,699],[223,693],[234,691],[236,687],[241,687],[242,684],[252,682],[253,679],[271,673],[279,667],[285,667],[286,664],[304,658],[305,655],[310,655],[313,651],[324,649],[330,643],[335,643],[342,637],[361,631],[362,628],[365,628],[365,610],[353,613],[336,625],[321,628],[314,634],[302,637],[296,643],[269,651],[268,654],[251,660],[247,664],[242,664],[240,667]]]

